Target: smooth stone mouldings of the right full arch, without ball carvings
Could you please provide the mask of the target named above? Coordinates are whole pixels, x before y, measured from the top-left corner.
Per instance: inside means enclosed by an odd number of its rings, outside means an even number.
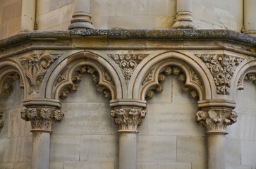
[[[135,83],[133,85],[133,98],[144,100],[147,90],[151,89],[152,87],[159,86],[158,76],[164,71],[164,68],[168,66],[175,66],[181,68],[185,74],[185,86],[195,89],[198,92],[200,101],[212,99],[212,89],[214,89],[214,86],[208,79],[209,77],[212,78],[212,75],[205,71],[197,61],[199,61],[197,58],[193,58],[176,51],[167,51],[163,54],[153,56],[147,60],[146,63],[142,63],[144,65],[142,68],[140,68],[140,73],[138,73],[138,76],[135,77]],[[145,83],[145,78],[147,78],[150,71],[152,71],[152,76],[150,75],[150,80]],[[193,72],[198,75],[201,85],[198,84],[198,82],[195,82]]]

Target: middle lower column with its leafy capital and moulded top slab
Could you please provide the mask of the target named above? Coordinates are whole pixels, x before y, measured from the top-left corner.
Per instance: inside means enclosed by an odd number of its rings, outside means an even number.
[[[133,104],[133,106],[128,105]],[[138,125],[142,125],[142,118],[145,118],[145,102],[122,102],[111,111],[111,116],[115,118],[115,123],[119,125],[119,158],[118,168],[136,169],[137,165],[137,134]]]

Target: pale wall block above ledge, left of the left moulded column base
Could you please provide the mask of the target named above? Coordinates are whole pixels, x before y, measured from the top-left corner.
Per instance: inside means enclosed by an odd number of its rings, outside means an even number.
[[[38,30],[47,30],[48,27],[59,25],[59,9],[37,16]]]

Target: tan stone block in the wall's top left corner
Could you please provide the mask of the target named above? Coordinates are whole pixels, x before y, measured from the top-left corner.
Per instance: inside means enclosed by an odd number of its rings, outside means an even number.
[[[18,18],[21,16],[21,4],[22,1],[16,1],[13,4],[5,6],[2,8],[2,23],[8,22],[13,18]]]

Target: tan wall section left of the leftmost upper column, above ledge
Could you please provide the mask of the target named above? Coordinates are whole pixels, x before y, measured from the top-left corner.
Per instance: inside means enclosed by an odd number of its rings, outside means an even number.
[[[0,1],[0,39],[20,32],[22,0]]]

